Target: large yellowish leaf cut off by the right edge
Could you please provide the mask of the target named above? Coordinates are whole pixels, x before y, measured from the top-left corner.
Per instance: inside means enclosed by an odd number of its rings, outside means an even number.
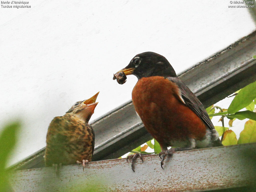
[[[248,120],[244,124],[244,130],[241,131],[238,144],[256,142],[256,121]]]

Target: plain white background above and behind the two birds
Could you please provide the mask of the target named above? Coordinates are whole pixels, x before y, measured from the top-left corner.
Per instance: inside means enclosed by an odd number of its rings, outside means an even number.
[[[28,1],[0,7],[0,127],[23,122],[10,164],[44,147],[74,102],[100,91],[93,120],[130,100],[136,77],[112,77],[136,54],[157,52],[180,73],[255,30],[227,0]]]

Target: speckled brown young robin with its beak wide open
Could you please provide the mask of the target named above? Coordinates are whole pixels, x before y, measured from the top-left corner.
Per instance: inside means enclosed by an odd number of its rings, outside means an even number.
[[[63,116],[55,117],[46,136],[45,165],[90,162],[94,150],[94,131],[88,124],[99,92],[90,99],[76,102]]]

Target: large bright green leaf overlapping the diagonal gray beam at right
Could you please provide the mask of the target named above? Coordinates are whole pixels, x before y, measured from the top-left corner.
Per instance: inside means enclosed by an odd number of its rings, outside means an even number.
[[[256,98],[256,81],[242,88],[234,97],[233,101],[228,107],[228,113],[236,113],[240,109],[248,106],[253,99]]]

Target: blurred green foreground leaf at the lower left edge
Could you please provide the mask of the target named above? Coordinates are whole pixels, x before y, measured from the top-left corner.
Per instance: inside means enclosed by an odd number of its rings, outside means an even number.
[[[0,135],[0,189],[8,191],[9,184],[6,173],[6,163],[17,141],[17,133],[20,129],[20,123],[13,122],[4,127]]]

